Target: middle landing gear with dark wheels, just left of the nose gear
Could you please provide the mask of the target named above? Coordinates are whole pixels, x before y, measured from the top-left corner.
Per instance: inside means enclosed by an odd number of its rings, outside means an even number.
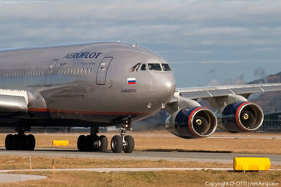
[[[81,135],[77,140],[79,151],[106,151],[108,141],[106,136],[98,136],[99,127],[91,127],[90,135]]]

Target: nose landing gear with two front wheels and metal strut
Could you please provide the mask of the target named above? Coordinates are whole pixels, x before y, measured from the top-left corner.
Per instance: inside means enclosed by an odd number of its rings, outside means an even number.
[[[132,123],[129,121],[122,121],[120,130],[120,136],[115,135],[111,139],[111,150],[114,153],[120,153],[123,149],[125,153],[133,152],[135,148],[135,141],[132,136],[127,135],[126,131],[130,131],[132,127]]]

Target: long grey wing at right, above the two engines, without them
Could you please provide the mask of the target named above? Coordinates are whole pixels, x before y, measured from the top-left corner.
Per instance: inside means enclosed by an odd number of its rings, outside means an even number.
[[[210,98],[227,96],[229,93],[241,95],[248,98],[252,93],[268,92],[281,90],[281,83],[276,84],[245,84],[245,85],[232,85],[232,86],[209,86],[209,87],[196,87],[196,88],[178,88],[182,97],[188,99]],[[175,100],[171,99],[170,102]]]

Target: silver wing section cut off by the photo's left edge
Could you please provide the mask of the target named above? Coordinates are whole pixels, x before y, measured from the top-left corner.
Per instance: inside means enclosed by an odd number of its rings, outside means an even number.
[[[25,90],[0,90],[0,113],[28,112]]]

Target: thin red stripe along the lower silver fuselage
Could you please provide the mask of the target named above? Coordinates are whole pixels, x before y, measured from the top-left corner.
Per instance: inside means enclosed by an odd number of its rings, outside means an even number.
[[[94,114],[94,115],[151,115],[152,113],[131,113],[131,112],[94,112],[94,111],[76,111],[76,110],[61,110],[55,108],[28,108],[28,111],[33,112],[58,112],[58,113],[77,113],[77,114]]]

